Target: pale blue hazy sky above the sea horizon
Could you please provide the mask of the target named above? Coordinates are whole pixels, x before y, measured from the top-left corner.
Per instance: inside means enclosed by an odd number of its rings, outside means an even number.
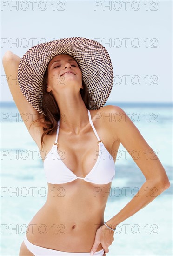
[[[67,37],[106,47],[114,81],[108,102],[173,101],[173,1],[1,0],[0,101],[13,101],[2,57]]]

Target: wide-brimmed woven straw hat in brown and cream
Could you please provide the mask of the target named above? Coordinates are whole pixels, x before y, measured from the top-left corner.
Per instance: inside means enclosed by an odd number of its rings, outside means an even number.
[[[38,44],[23,55],[18,68],[18,82],[27,101],[45,115],[42,110],[43,78],[49,61],[58,54],[69,54],[80,65],[83,80],[91,95],[89,109],[103,107],[113,87],[113,66],[103,45],[83,37]]]

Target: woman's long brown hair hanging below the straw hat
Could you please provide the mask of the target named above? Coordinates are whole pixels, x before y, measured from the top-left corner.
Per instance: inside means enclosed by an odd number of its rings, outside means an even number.
[[[78,66],[81,70],[81,67],[79,64]],[[41,136],[41,147],[42,147],[42,144],[44,143],[43,142],[44,136],[54,133],[57,129],[57,122],[60,120],[60,110],[59,110],[58,104],[52,92],[47,92],[47,80],[48,80],[48,65],[45,70],[43,87],[42,87],[42,92],[43,92],[42,109],[45,113],[45,116],[44,116],[44,120],[41,118],[35,120],[39,122],[39,126],[43,127],[43,131],[44,131]],[[86,108],[89,109],[89,102],[91,101],[91,96],[83,80],[83,77],[82,77],[82,85],[83,85],[83,88],[80,88],[80,94],[85,103]],[[33,121],[33,123],[35,121]]]

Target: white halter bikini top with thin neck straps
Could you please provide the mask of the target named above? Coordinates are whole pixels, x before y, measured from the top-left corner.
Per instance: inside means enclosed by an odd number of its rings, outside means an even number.
[[[85,176],[77,177],[64,162],[60,159],[60,155],[58,154],[58,133],[59,133],[59,125],[60,120],[58,121],[56,140],[53,144],[51,150],[47,154],[47,157],[44,160],[44,171],[47,178],[47,182],[51,184],[62,184],[67,182],[72,182],[76,179],[82,179],[86,182],[91,182],[94,184],[107,184],[112,182],[115,176],[115,163],[112,155],[105,148],[103,142],[100,140],[93,122],[91,120],[91,114],[88,110],[88,117],[90,124],[93,128],[93,131],[97,137],[97,142],[99,144],[99,155],[97,157],[96,163],[91,169],[91,171]],[[87,163],[86,163],[87,164]]]

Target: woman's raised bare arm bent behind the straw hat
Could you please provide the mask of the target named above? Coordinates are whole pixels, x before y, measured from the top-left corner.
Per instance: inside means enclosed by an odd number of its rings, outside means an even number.
[[[44,118],[44,115],[41,115],[35,108],[33,108],[20,90],[17,80],[20,57],[13,54],[11,51],[7,51],[3,56],[2,63],[7,77],[8,86],[16,107],[18,108],[21,118],[23,119],[30,135],[40,148],[43,129],[42,127],[38,126],[37,122],[35,122],[33,125],[31,125],[31,123],[38,118]]]

